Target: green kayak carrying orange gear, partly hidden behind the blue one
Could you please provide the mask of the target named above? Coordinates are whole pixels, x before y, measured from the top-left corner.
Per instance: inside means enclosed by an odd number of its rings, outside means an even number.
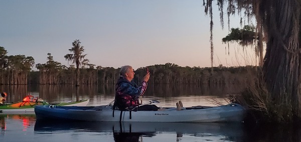
[[[57,106],[86,106],[89,102],[89,99],[80,100],[80,101],[67,101],[55,104]],[[0,105],[0,113],[5,114],[23,114],[23,113],[34,113],[35,106],[37,105],[52,105],[45,101],[22,101],[16,103],[7,103]]]

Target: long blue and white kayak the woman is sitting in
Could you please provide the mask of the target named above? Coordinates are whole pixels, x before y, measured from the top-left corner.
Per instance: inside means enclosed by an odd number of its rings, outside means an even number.
[[[53,106],[37,105],[37,119],[69,119],[120,122],[219,122],[242,121],[245,109],[236,103],[220,106],[160,107],[157,111],[113,110],[112,105]]]

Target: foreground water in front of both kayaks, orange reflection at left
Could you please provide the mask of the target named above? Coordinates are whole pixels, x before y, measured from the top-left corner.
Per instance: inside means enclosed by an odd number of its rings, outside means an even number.
[[[40,121],[0,114],[0,125],[1,141],[301,141],[298,124]]]

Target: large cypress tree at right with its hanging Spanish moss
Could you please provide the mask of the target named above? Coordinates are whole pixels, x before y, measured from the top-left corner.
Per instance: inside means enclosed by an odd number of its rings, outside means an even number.
[[[270,96],[271,103],[280,106],[276,115],[286,114],[301,119],[301,0],[217,0],[219,7],[227,2],[228,27],[229,17],[238,14],[247,22],[252,17],[256,19],[256,54],[262,65],[263,81]],[[204,0],[205,12],[212,10],[212,0]],[[221,8],[219,8],[221,10]],[[212,13],[210,17],[212,19]],[[242,19],[240,20],[242,22]],[[210,21],[210,26],[213,25]],[[210,28],[210,31],[212,29]],[[239,33],[239,32],[237,32]],[[211,33],[212,35],[212,33]],[[210,36],[211,36],[210,35]],[[233,36],[228,39],[240,39]],[[249,37],[251,38],[251,36]],[[253,38],[255,39],[255,38]],[[210,42],[212,38],[210,37]],[[242,44],[248,43],[242,42]],[[266,42],[266,52],[263,59],[263,42]],[[213,45],[210,45],[211,55]],[[213,58],[211,58],[213,59]],[[281,105],[281,104],[285,105]],[[278,113],[281,112],[281,113]],[[285,112],[285,113],[282,113]],[[269,113],[269,116],[271,113]],[[284,115],[282,115],[284,116]]]

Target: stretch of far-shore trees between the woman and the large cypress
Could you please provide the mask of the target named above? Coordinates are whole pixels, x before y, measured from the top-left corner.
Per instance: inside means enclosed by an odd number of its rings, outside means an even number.
[[[189,67],[174,63],[156,64],[146,66],[150,72],[149,83],[152,84],[239,84],[245,83],[252,76],[247,76],[247,68],[255,70],[255,66],[239,67]],[[135,80],[141,80],[145,74],[145,67],[135,71]]]

